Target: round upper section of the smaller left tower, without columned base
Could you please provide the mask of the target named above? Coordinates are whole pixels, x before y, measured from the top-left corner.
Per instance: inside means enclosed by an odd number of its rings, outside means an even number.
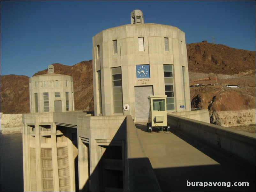
[[[29,79],[30,113],[74,111],[73,78],[54,73],[54,66],[48,66],[48,73]]]

